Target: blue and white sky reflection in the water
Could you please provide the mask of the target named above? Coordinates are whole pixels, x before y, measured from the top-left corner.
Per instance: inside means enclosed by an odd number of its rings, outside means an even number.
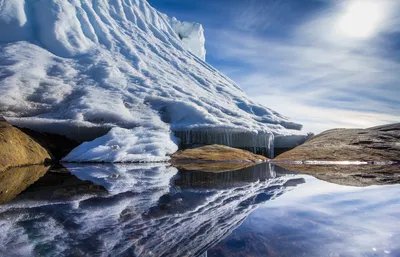
[[[252,212],[208,257],[400,256],[400,186],[306,183]]]

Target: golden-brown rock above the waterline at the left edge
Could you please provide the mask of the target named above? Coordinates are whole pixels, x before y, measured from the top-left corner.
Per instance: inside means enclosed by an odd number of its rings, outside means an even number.
[[[42,164],[50,153],[30,136],[5,121],[0,121],[0,171],[10,167]]]

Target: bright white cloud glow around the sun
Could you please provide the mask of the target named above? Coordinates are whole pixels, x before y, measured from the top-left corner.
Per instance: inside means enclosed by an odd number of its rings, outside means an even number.
[[[379,36],[399,31],[399,8],[397,0],[332,1],[330,8],[298,26],[294,36],[336,47],[371,48]]]

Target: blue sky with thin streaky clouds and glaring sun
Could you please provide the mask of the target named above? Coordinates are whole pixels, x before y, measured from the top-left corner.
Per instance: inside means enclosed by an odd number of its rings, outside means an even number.
[[[304,130],[400,122],[400,0],[149,0],[207,62]]]

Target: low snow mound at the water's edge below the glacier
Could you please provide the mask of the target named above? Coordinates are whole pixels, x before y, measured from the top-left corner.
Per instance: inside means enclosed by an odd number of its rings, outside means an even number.
[[[178,151],[177,139],[165,131],[147,128],[113,128],[107,135],[85,142],[63,161],[70,162],[164,162]]]

